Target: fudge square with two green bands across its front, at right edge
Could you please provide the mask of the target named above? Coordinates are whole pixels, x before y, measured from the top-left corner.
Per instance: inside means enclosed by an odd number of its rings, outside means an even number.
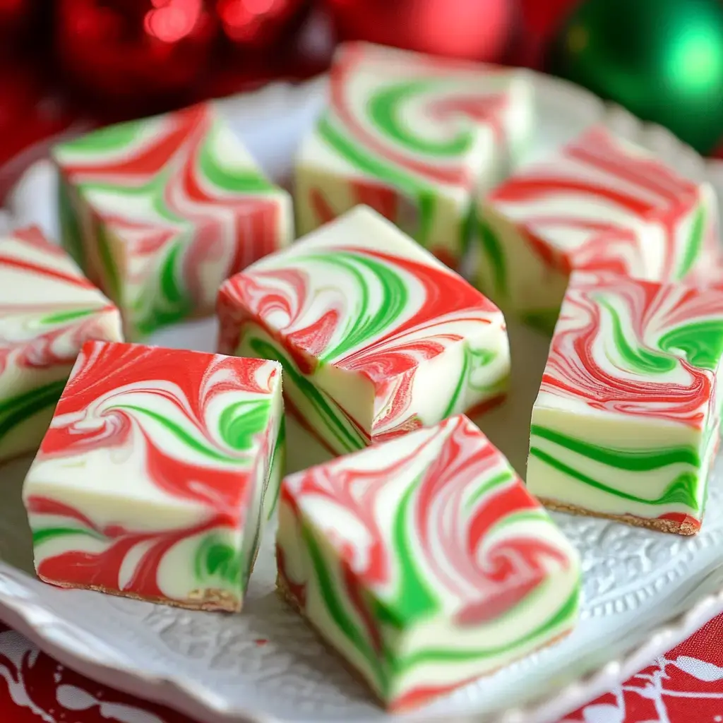
[[[553,509],[694,534],[718,446],[723,290],[575,273],[532,411]]]

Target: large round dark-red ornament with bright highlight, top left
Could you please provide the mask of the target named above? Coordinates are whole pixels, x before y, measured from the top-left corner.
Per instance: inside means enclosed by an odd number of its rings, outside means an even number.
[[[57,0],[56,48],[82,93],[124,114],[179,102],[208,67],[205,0]]]

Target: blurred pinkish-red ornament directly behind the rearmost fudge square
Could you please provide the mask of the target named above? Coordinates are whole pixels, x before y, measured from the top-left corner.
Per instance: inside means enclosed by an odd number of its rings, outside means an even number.
[[[510,38],[511,0],[326,0],[344,40],[500,61]]]

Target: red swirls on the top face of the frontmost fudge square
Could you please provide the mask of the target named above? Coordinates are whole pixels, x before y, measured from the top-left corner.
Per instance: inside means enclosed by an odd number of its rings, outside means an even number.
[[[282,504],[296,517],[302,514],[300,505],[305,498],[324,497],[363,527],[368,542],[362,551],[344,537],[333,516],[326,528],[323,521],[317,521],[346,571],[348,590],[390,581],[395,550],[390,549],[377,521],[380,495],[390,480],[416,474],[411,468],[427,448],[435,450],[427,453],[432,463],[414,482],[406,531],[414,540],[411,548],[419,550],[424,560],[420,567],[424,577],[429,579],[431,573],[435,587],[457,600],[458,623],[471,625],[502,615],[547,577],[549,560],[568,567],[570,560],[564,550],[523,531],[487,543],[496,523],[518,511],[540,509],[539,502],[482,432],[466,417],[455,416],[438,424],[431,436],[425,431],[414,450],[382,469],[354,466],[355,458],[383,454],[372,448],[301,472],[283,484]],[[510,480],[491,489],[469,510],[476,489],[505,469],[510,471]]]

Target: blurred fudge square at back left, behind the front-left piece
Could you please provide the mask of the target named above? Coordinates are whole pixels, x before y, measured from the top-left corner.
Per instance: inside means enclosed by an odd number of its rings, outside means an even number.
[[[58,145],[64,245],[129,338],[213,312],[218,287],[290,241],[288,194],[210,104]]]

